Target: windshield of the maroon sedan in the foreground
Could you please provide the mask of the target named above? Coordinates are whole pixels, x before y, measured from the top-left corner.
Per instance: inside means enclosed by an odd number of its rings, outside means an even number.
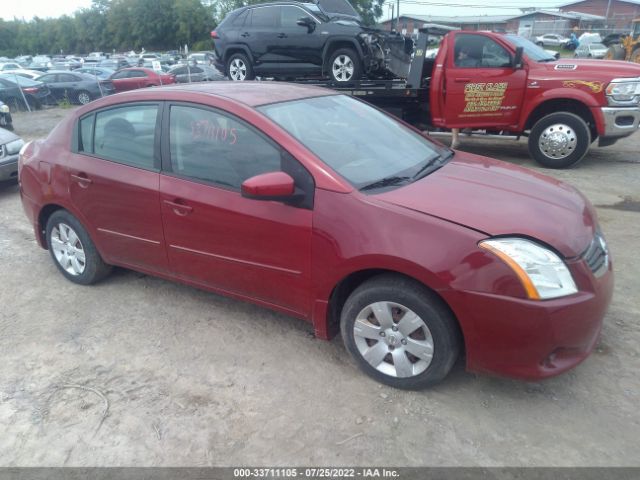
[[[410,183],[439,168],[451,150],[346,95],[258,108],[361,190]]]

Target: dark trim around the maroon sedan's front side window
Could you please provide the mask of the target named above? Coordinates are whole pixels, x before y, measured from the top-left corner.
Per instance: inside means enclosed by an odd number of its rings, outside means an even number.
[[[242,194],[241,189],[230,187],[228,185],[222,185],[220,183],[212,182],[210,180],[204,180],[202,178],[194,178],[194,177],[190,177],[189,175],[182,175],[180,173],[176,173],[176,172],[173,171],[173,168],[171,166],[171,145],[170,145],[170,131],[169,131],[171,107],[178,106],[178,107],[199,108],[201,110],[206,110],[206,111],[209,111],[209,112],[212,112],[212,113],[215,113],[215,114],[219,114],[219,115],[222,115],[222,116],[229,117],[231,120],[237,121],[238,123],[241,123],[242,125],[245,125],[249,130],[253,131],[260,138],[264,139],[268,144],[270,144],[271,146],[275,147],[280,152],[281,156],[282,156],[283,153],[286,154],[286,155],[289,155],[294,161],[296,161],[307,172],[308,177],[311,178],[311,181],[313,183],[313,189],[312,189],[311,192],[305,192],[305,195],[310,195],[312,198],[315,197],[316,179],[314,178],[313,174],[309,171],[309,169],[300,160],[298,160],[295,155],[293,155],[286,148],[284,148],[278,142],[273,140],[271,137],[269,137],[269,135],[267,135],[264,131],[262,131],[261,129],[259,129],[255,125],[247,122],[243,118],[235,115],[232,112],[229,112],[228,110],[224,110],[222,108],[214,107],[212,105],[207,105],[207,104],[204,104],[204,103],[176,101],[176,100],[167,100],[167,101],[165,101],[163,103],[165,105],[163,107],[163,112],[162,112],[162,129],[161,129],[162,135],[160,135],[160,142],[161,142],[161,146],[160,146],[160,157],[161,157],[160,175],[167,175],[169,177],[179,178],[181,180],[186,180],[186,181],[189,181],[189,182],[198,183],[200,185],[206,185],[208,187],[219,188],[221,190],[226,190],[226,191],[229,191],[229,192],[237,193],[238,195]],[[279,171],[281,171],[281,170],[279,170]],[[310,210],[313,209],[313,202],[311,202],[311,204],[312,204],[312,206],[311,206],[311,208],[309,208]],[[300,208],[307,208],[307,207],[300,207]]]

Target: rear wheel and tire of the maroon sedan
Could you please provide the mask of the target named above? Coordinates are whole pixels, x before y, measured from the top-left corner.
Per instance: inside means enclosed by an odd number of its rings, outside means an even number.
[[[82,224],[66,210],[47,221],[47,246],[58,270],[70,281],[91,285],[111,272]]]

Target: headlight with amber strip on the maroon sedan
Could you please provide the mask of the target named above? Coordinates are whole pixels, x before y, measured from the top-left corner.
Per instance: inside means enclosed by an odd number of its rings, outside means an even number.
[[[478,246],[506,263],[533,300],[564,297],[578,291],[562,259],[537,243],[522,238],[496,238]]]

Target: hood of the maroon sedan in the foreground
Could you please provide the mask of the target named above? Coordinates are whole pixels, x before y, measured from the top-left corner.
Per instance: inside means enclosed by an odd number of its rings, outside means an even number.
[[[575,188],[460,152],[431,175],[375,197],[490,236],[535,238],[567,258],[584,252],[596,228],[591,204]]]

